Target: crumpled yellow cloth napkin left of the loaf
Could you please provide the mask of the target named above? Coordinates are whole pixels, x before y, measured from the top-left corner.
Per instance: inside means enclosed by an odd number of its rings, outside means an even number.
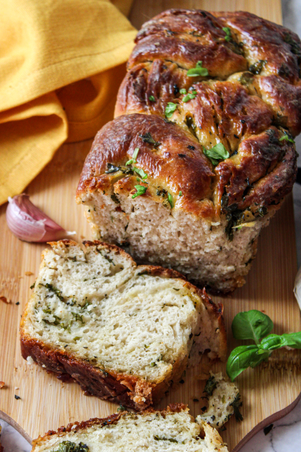
[[[130,6],[0,0],[0,204],[65,140],[91,138],[112,119],[136,34],[120,12]]]

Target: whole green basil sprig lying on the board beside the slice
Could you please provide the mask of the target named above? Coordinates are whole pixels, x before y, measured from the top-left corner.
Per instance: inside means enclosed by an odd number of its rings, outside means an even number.
[[[227,375],[231,381],[248,367],[254,368],[263,361],[267,361],[273,350],[277,348],[286,346],[301,348],[301,331],[281,335],[269,334],[273,326],[268,315],[255,309],[239,312],[234,317],[232,322],[234,338],[252,339],[255,344],[240,345],[232,350],[227,361]],[[266,336],[266,334],[269,335]]]

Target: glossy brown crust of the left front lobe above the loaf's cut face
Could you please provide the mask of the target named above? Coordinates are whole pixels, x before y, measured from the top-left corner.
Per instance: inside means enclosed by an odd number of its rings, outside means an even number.
[[[142,136],[147,133],[160,143],[157,148],[143,141]],[[211,162],[189,132],[155,115],[120,116],[108,122],[97,133],[79,181],[79,202],[82,193],[108,187],[108,181],[117,174],[105,174],[107,165],[121,165],[125,168],[125,163],[132,158],[136,147],[139,147],[139,153],[135,166],[148,174],[150,183],[154,181],[155,187],[160,185],[175,195],[182,191],[181,204],[187,210],[212,217],[213,204],[211,203],[209,210],[207,206],[203,209],[203,205],[199,204],[199,201],[212,197],[214,174]],[[122,171],[121,178],[128,181]],[[114,181],[115,179],[112,182]],[[136,177],[133,177],[129,191],[134,188],[134,184],[137,184]],[[148,193],[147,190],[145,195]]]

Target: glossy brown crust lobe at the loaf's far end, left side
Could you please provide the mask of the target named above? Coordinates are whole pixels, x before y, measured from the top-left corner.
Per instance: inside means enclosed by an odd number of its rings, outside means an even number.
[[[129,58],[128,68],[156,58],[176,62],[185,69],[203,61],[212,77],[225,78],[247,69],[245,58],[225,41],[222,22],[212,14],[169,9],[144,24]]]

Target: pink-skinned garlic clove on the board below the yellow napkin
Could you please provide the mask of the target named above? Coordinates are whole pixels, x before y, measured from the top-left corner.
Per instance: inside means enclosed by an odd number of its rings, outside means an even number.
[[[32,204],[25,193],[8,198],[6,222],[16,237],[26,242],[60,240],[75,231],[66,231],[51,220],[42,210]]]

